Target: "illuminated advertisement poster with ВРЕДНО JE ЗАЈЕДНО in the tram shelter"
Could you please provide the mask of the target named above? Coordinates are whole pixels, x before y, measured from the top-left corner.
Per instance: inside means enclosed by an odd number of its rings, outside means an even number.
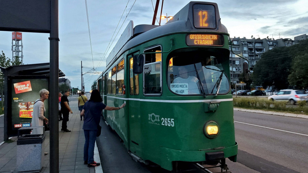
[[[40,98],[41,89],[48,90],[47,79],[13,79],[12,80],[12,130],[30,127],[33,106]],[[44,101],[45,117],[49,119],[49,102]]]

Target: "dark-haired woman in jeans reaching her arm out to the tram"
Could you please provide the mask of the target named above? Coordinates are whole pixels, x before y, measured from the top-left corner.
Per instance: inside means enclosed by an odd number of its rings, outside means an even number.
[[[80,113],[81,116],[85,116],[83,123],[83,131],[85,133],[85,146],[83,149],[84,164],[88,164],[88,167],[99,166],[100,163],[94,161],[94,146],[96,140],[97,127],[101,121],[102,110],[119,110],[126,104],[123,103],[120,107],[109,107],[102,103],[102,98],[97,89],[91,93],[90,100],[85,102],[83,109]]]

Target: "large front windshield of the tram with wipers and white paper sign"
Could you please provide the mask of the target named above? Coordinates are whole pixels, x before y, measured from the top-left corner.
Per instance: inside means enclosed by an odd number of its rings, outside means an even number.
[[[189,57],[183,53],[171,57],[167,82],[169,89],[179,95],[215,95],[218,89],[217,94],[227,94],[230,90],[222,64],[210,55]]]

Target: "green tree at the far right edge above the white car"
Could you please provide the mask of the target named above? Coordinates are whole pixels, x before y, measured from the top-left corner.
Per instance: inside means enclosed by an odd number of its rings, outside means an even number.
[[[291,69],[288,77],[290,85],[296,85],[300,89],[308,88],[308,54],[296,56]]]

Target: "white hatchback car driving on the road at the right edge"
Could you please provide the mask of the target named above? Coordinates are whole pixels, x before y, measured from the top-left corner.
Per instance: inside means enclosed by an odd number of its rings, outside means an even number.
[[[308,95],[301,90],[280,90],[277,94],[269,96],[269,100],[277,101],[289,101],[291,104],[295,104],[300,100],[308,101]]]

